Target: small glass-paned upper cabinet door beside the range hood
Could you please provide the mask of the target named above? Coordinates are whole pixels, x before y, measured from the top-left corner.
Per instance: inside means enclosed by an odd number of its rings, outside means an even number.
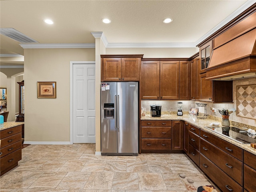
[[[199,48],[199,56],[201,58],[200,73],[204,73],[205,69],[208,68],[211,55],[212,55],[212,40]]]

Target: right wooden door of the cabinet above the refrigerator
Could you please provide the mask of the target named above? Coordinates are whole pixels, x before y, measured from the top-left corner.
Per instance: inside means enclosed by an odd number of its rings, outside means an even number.
[[[122,58],[122,81],[140,80],[140,58]]]

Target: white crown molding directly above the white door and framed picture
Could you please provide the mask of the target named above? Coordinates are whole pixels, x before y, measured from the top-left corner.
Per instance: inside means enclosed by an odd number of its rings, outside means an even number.
[[[53,43],[53,44],[20,44],[24,49],[46,48],[95,48],[95,43]]]

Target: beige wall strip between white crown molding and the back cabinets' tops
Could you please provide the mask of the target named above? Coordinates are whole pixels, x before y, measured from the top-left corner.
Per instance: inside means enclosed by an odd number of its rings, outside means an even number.
[[[106,54],[144,54],[143,58],[190,58],[199,48],[107,48]]]

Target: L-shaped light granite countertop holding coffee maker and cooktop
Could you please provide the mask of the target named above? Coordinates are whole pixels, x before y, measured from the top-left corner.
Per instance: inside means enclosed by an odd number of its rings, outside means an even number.
[[[189,115],[177,116],[177,115],[169,115],[169,114],[162,115],[161,117],[151,117],[149,114],[146,114],[146,116],[141,117],[140,120],[184,120],[184,121],[188,122],[189,124],[192,124],[206,132],[209,132],[219,138],[222,138],[223,140],[226,140],[226,141],[256,155],[256,149],[251,147],[250,144],[240,144],[232,139],[229,139],[225,136],[222,136],[214,131],[211,131],[211,130],[205,128],[206,126],[210,126],[209,124],[212,122],[220,123],[220,126],[221,126],[221,122],[217,122],[217,121],[210,120],[210,119],[197,119],[196,116],[194,116],[194,117],[189,116]]]

